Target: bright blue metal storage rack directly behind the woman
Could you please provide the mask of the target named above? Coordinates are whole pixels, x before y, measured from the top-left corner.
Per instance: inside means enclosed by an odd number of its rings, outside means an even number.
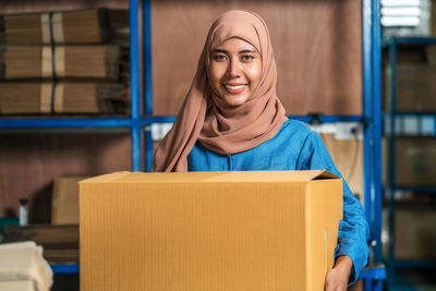
[[[152,15],[150,0],[143,1],[143,61],[144,114],[141,114],[140,96],[140,27],[138,0],[130,0],[130,54],[131,54],[131,117],[130,118],[0,118],[0,129],[114,129],[124,128],[132,135],[132,170],[150,171],[153,157],[152,124],[173,122],[174,117],[153,116],[152,80]],[[382,262],[382,101],[380,101],[380,25],[379,0],[362,0],[363,32],[363,114],[319,116],[318,122],[361,122],[364,124],[364,192],[365,214],[370,225],[370,241],[375,242],[373,262]],[[291,117],[310,122],[313,117]],[[144,135],[143,135],[144,133]],[[144,141],[145,156],[142,153]],[[142,161],[145,160],[143,168]],[[77,265],[52,265],[57,274],[77,274]],[[383,265],[373,264],[361,278],[365,290],[382,290],[386,277]]]

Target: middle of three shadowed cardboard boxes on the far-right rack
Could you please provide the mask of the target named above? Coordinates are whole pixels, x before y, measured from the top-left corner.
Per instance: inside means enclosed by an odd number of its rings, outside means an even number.
[[[396,138],[396,184],[436,186],[436,138]]]

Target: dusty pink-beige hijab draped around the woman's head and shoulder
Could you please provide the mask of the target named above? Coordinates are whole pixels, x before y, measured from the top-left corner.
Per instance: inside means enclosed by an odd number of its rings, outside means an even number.
[[[233,37],[250,43],[262,58],[258,87],[237,107],[227,106],[211,90],[207,77],[210,51]],[[187,155],[197,141],[213,151],[229,155],[270,140],[287,120],[276,96],[276,61],[262,17],[243,10],[223,13],[210,27],[191,89],[171,131],[155,151],[153,171],[186,171]]]

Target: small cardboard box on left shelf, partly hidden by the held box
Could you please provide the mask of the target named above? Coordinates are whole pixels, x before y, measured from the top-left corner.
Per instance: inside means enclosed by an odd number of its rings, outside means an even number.
[[[87,177],[55,179],[51,205],[52,225],[78,225],[78,182]]]

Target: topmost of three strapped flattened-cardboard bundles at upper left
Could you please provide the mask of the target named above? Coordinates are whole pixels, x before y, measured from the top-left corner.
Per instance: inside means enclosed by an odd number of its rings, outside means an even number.
[[[101,44],[129,36],[125,10],[92,9],[0,15],[0,44]]]

